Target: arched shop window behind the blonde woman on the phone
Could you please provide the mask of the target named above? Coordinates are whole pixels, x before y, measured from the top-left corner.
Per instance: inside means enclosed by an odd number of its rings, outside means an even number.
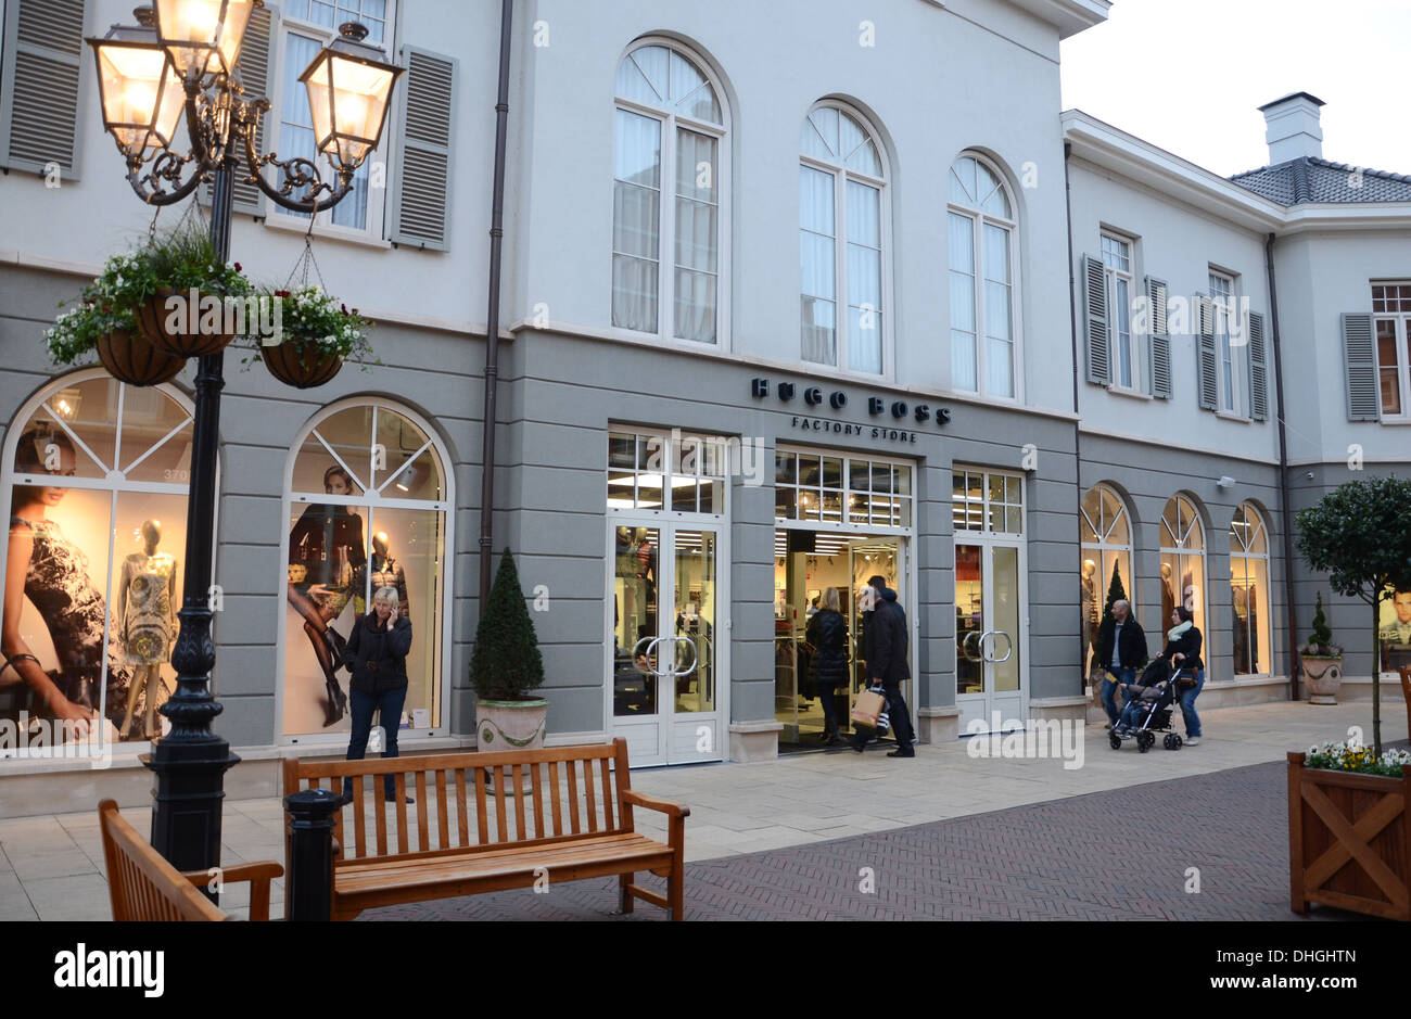
[[[425,421],[382,399],[325,408],[295,445],[286,480],[284,735],[349,731],[343,646],[382,587],[412,621],[405,717],[443,725],[453,549],[449,459]]]

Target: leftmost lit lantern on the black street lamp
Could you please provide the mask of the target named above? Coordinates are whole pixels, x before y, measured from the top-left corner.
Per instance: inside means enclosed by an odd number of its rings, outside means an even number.
[[[181,120],[186,93],[151,27],[151,8],[138,8],[141,25],[113,25],[89,40],[97,59],[103,128],[128,157],[166,148]]]

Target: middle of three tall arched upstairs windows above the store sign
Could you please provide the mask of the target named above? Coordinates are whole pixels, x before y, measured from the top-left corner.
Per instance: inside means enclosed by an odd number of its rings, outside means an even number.
[[[799,141],[803,360],[883,371],[886,167],[876,134],[840,103],[816,106]]]

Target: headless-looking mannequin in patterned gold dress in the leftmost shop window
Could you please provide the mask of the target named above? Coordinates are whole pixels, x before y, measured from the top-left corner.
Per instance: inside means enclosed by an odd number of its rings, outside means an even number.
[[[176,560],[157,546],[162,541],[161,521],[143,521],[143,550],[123,562],[123,580],[117,591],[117,615],[121,629],[119,644],[133,666],[127,687],[127,716],[123,737],[133,724],[137,693],[145,692],[147,721],[143,734],[157,737],[157,696],[162,687],[162,663],[171,653],[176,631]]]

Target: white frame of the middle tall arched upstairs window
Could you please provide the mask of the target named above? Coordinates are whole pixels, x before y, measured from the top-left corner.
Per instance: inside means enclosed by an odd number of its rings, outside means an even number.
[[[811,155],[799,154],[799,165],[807,167],[809,169],[817,169],[821,174],[828,174],[832,176],[832,272],[834,272],[834,322],[837,327],[835,343],[838,351],[838,363],[827,364],[824,361],[809,361],[803,357],[803,310],[800,305],[800,320],[799,320],[799,360],[803,364],[811,367],[825,367],[834,368],[842,375],[852,375],[855,378],[864,378],[868,381],[876,381],[878,378],[895,378],[896,358],[892,350],[892,319],[896,315],[892,306],[892,189],[888,182],[892,179],[892,167],[888,164],[886,148],[882,145],[882,137],[878,133],[872,121],[862,116],[862,113],[842,103],[837,99],[824,99],[823,102],[814,103],[809,107],[809,113],[804,114],[803,123],[809,123],[809,117],[817,110],[834,109],[840,113],[845,113],[852,117],[862,127],[864,133],[868,135],[868,141],[878,152],[878,161],[882,164],[882,176],[872,176],[871,174],[862,174],[852,169],[842,162],[825,162]],[[882,306],[875,309],[882,318],[882,371],[872,373],[862,368],[854,368],[848,364],[849,353],[849,337],[848,327],[852,322],[848,291],[848,181],[856,181],[869,188],[876,188],[878,191],[878,217],[880,220],[880,241],[882,241]],[[796,188],[797,195],[797,188]],[[799,230],[803,230],[803,209],[799,210]],[[803,281],[800,279],[800,295],[803,294]]]

